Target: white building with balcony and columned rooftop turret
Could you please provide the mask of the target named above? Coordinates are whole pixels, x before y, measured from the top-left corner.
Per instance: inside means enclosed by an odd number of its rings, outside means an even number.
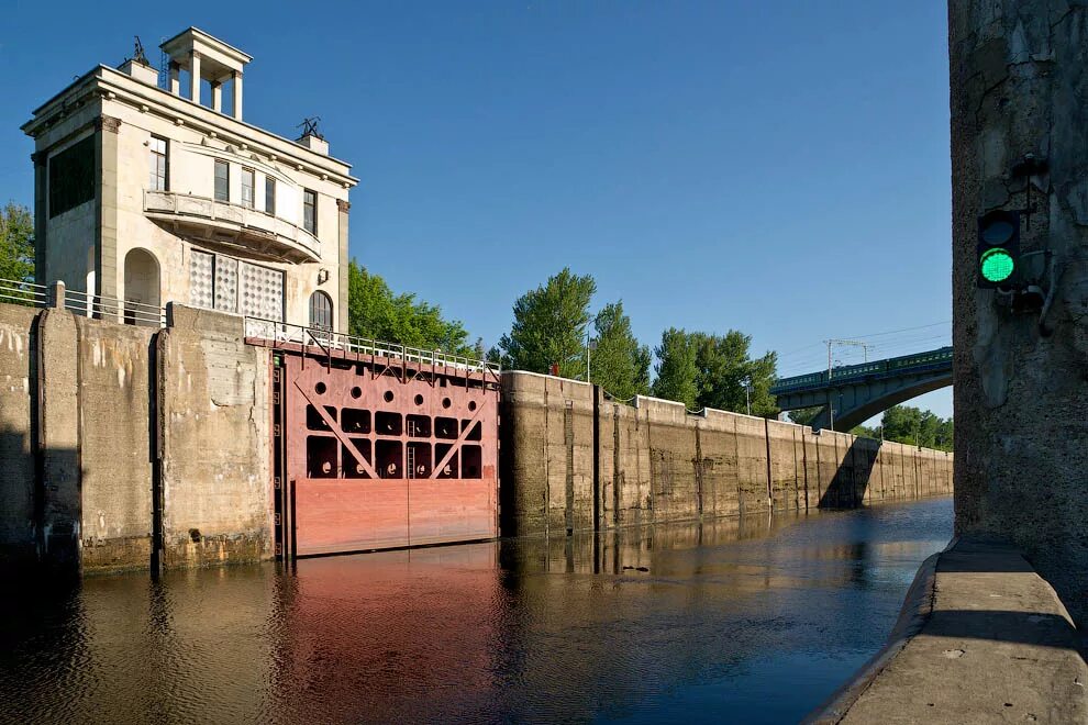
[[[351,166],[242,120],[245,53],[195,27],[162,48],[167,89],[142,58],[98,66],[23,125],[37,282],[130,322],[176,301],[346,332]]]

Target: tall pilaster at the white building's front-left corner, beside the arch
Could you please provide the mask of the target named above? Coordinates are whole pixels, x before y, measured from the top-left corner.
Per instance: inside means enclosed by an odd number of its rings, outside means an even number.
[[[120,119],[101,115],[96,122],[95,279],[101,297],[118,295],[118,134]],[[88,290],[88,292],[91,290]],[[109,316],[104,315],[103,316]]]

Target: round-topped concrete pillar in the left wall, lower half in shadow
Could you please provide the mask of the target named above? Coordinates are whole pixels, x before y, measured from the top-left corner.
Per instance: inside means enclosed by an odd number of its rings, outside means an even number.
[[[81,522],[79,405],[76,320],[49,309],[38,317],[37,414],[41,460],[42,559],[64,569],[79,568]]]

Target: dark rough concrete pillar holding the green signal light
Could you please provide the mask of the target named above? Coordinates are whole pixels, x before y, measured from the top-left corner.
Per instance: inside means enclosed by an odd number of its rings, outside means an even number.
[[[1088,623],[1088,8],[950,0],[956,532],[1008,536]],[[1028,176],[1026,154],[1048,164]],[[1036,207],[1042,311],[976,288],[977,217]]]

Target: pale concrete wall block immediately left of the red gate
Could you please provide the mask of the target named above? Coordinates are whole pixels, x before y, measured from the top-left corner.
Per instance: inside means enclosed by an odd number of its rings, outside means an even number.
[[[242,317],[176,305],[157,350],[166,566],[271,556],[268,350]]]

